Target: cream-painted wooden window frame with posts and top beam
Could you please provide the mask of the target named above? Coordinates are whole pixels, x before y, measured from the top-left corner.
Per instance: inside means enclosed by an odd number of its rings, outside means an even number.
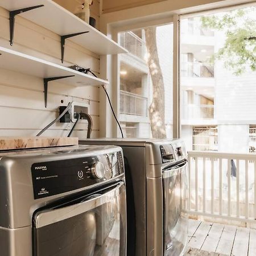
[[[102,0],[100,0],[102,1]],[[168,2],[168,1],[165,1]],[[242,2],[242,1],[240,1]],[[255,5],[255,1],[247,1],[246,3],[223,3],[217,2],[209,5],[201,5],[191,7],[189,9],[179,11],[168,11],[170,8],[167,3],[156,3],[160,9],[166,7],[166,13],[155,14],[150,8],[151,5],[144,6],[144,13],[140,15],[142,6],[135,7],[133,9],[115,11],[114,13],[101,14],[100,30],[107,36],[118,42],[118,32],[125,32],[134,30],[137,28],[149,27],[149,26],[161,26],[163,24],[172,23],[174,25],[173,35],[173,138],[180,138],[181,134],[181,114],[180,114],[180,19],[192,16],[198,16],[209,13],[216,13],[220,11],[236,9],[238,7],[246,7],[249,5]],[[162,10],[163,11],[163,10]],[[154,14],[153,14],[154,13]],[[125,16],[126,20],[121,21],[120,15]],[[100,71],[101,77],[108,79],[110,85],[108,92],[110,98],[113,101],[113,108],[119,119],[119,64],[120,57],[118,55],[113,56],[101,56],[100,57]],[[105,108],[106,117],[100,121],[100,136],[101,137],[121,137],[121,133],[118,130],[118,125],[112,117],[112,113],[109,109],[108,102],[106,101],[105,94],[100,91],[100,108]],[[101,118],[102,119],[102,118]]]

